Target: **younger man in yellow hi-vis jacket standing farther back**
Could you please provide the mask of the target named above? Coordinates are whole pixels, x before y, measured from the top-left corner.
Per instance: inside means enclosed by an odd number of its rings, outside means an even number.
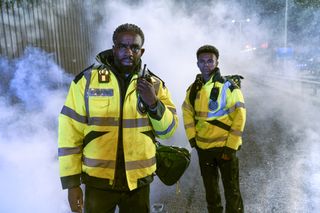
[[[201,74],[187,90],[182,105],[184,127],[191,147],[198,152],[208,212],[223,212],[219,171],[226,212],[243,212],[236,151],[242,144],[246,110],[240,88],[221,76],[218,59],[219,51],[214,46],[198,49]]]

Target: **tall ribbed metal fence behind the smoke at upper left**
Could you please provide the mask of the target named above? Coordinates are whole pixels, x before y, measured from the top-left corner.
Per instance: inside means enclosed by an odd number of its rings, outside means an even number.
[[[39,47],[78,73],[92,52],[88,10],[82,0],[0,0],[0,56],[17,58],[27,46]]]

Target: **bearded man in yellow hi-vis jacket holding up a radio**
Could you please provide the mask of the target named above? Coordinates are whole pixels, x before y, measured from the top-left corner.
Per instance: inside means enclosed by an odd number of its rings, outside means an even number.
[[[71,83],[59,116],[59,163],[73,212],[149,212],[155,138],[177,128],[164,82],[141,63],[144,34],[123,24],[114,46]]]

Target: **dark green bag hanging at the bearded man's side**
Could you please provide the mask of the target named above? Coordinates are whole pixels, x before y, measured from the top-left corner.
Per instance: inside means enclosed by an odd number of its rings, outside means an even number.
[[[156,143],[157,170],[159,179],[168,186],[175,184],[190,164],[191,155],[182,147],[165,146]]]

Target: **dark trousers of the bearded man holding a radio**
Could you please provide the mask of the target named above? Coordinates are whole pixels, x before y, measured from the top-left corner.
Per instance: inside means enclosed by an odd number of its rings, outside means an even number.
[[[86,186],[85,213],[113,213],[118,206],[120,213],[150,212],[150,185],[133,191],[121,192]]]

